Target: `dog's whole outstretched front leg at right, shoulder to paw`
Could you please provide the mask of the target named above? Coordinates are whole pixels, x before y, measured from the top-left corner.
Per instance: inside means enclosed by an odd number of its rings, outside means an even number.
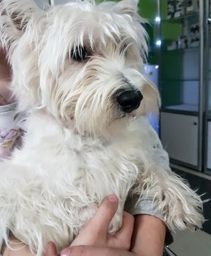
[[[158,135],[150,126],[147,130],[150,140],[146,140],[146,150],[142,151],[142,166],[131,194],[139,195],[139,200],[150,200],[152,210],[163,217],[169,230],[202,227],[202,199],[172,172]]]

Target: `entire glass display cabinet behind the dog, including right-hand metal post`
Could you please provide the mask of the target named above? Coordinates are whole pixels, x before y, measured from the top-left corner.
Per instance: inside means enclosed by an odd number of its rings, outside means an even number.
[[[211,175],[211,1],[192,1],[195,11],[191,1],[177,1],[181,15],[174,15],[176,1],[158,2],[161,140],[172,162]]]

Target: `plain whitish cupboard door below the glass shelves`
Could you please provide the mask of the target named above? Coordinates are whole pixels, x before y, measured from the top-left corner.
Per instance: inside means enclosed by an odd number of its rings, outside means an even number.
[[[198,117],[161,112],[161,140],[172,162],[198,165]]]

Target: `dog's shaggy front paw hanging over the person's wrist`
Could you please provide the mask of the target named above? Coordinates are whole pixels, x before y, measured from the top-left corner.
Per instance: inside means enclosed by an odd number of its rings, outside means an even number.
[[[152,165],[133,191],[134,194],[137,192],[141,195],[140,200],[151,202],[150,211],[158,214],[172,232],[202,227],[201,197],[188,186],[187,181],[171,170]]]

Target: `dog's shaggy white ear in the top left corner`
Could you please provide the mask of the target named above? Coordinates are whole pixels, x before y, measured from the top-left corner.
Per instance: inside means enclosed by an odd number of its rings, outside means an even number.
[[[33,0],[3,0],[0,2],[0,45],[7,50],[26,29],[29,22],[43,12]]]

